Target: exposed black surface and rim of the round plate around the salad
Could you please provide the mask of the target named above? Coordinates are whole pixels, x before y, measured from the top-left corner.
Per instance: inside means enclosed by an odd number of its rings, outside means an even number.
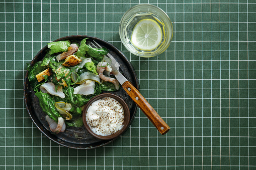
[[[129,80],[138,90],[139,90],[139,83],[135,73],[134,68],[132,67],[130,61],[124,56],[124,54],[114,47],[112,44],[101,40],[96,37],[91,36],[83,36],[83,35],[76,35],[76,36],[67,36],[60,38],[55,41],[61,40],[77,40],[81,41],[84,38],[87,39],[87,44],[90,44],[93,40],[99,43],[102,47],[106,47],[110,50],[110,54],[118,61],[120,64],[120,72]],[[33,66],[37,61],[40,61],[44,58],[46,54],[47,46],[45,46],[40,52],[35,56],[32,60],[31,65]],[[112,92],[117,96],[121,97],[130,109],[130,122],[131,124],[135,113],[137,111],[137,105],[133,102],[133,100],[128,96],[128,94],[124,91],[123,88],[116,92]],[[46,114],[43,112],[42,108],[40,107],[38,98],[35,96],[33,89],[31,88],[28,80],[28,71],[24,80],[24,99],[25,104],[28,110],[28,113],[35,123],[37,128],[48,138],[53,140],[54,142],[76,149],[89,149],[89,148],[96,148],[108,143],[113,142],[116,138],[111,140],[100,140],[92,136],[84,126],[76,128],[76,127],[69,127],[62,133],[53,134],[49,130],[48,123],[45,120]]]

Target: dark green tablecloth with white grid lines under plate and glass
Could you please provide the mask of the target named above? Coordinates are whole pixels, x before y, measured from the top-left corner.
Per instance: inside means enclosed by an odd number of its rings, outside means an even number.
[[[120,41],[121,17],[139,3],[158,6],[173,22],[172,43],[153,58],[132,55]],[[0,1],[0,169],[255,169],[255,3]],[[119,48],[169,132],[161,135],[138,110],[107,146],[76,150],[45,137],[24,104],[27,63],[68,35]]]

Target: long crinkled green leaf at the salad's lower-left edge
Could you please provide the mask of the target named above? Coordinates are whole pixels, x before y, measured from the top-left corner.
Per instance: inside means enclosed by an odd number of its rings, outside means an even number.
[[[48,93],[36,92],[35,95],[39,99],[40,106],[43,112],[46,113],[51,119],[56,123],[58,122],[58,117],[60,117],[59,112],[54,106],[54,101]]]

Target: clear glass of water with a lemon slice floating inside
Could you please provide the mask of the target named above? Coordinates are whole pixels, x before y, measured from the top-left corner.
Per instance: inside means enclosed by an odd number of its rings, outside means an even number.
[[[169,46],[173,38],[173,25],[160,8],[140,4],[123,15],[119,35],[127,50],[134,55],[153,57]]]

